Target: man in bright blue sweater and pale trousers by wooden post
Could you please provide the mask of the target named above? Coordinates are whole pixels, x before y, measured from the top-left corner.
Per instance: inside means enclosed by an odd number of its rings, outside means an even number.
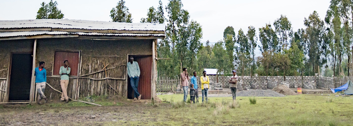
[[[38,104],[42,104],[40,101],[42,98],[45,100],[44,104],[48,102],[48,98],[44,95],[45,85],[47,82],[47,70],[44,69],[45,63],[39,62],[39,67],[35,68],[34,75],[36,76],[36,90],[38,92]]]

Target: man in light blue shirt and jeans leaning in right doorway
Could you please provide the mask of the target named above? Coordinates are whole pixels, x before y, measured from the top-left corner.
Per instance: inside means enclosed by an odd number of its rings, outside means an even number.
[[[134,90],[134,99],[140,100],[141,95],[137,90],[138,80],[140,78],[140,67],[136,61],[133,61],[133,57],[129,58],[129,62],[127,62],[127,74],[130,77],[130,84],[132,89]]]

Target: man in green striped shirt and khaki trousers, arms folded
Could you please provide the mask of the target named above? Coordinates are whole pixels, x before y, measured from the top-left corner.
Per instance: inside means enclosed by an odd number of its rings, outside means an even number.
[[[64,66],[61,66],[59,70],[59,74],[61,75],[60,86],[62,90],[60,102],[63,102],[65,100],[65,102],[67,103],[69,100],[67,96],[67,85],[68,85],[68,79],[69,79],[68,75],[70,75],[70,71],[71,71],[71,68],[68,67],[68,61],[65,60]]]

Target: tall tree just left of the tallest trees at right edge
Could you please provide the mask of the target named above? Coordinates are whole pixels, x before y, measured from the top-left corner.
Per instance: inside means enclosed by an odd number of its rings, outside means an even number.
[[[308,18],[304,18],[304,25],[306,26],[305,33],[305,50],[309,59],[307,61],[307,74],[313,75],[319,71],[319,67],[326,63],[324,57],[326,50],[325,45],[325,25],[323,20],[314,11]]]

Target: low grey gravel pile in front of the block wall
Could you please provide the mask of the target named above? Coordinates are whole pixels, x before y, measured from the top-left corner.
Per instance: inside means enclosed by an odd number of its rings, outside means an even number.
[[[248,97],[284,97],[285,95],[279,94],[276,91],[271,90],[250,90],[250,91],[240,91],[237,96]]]

